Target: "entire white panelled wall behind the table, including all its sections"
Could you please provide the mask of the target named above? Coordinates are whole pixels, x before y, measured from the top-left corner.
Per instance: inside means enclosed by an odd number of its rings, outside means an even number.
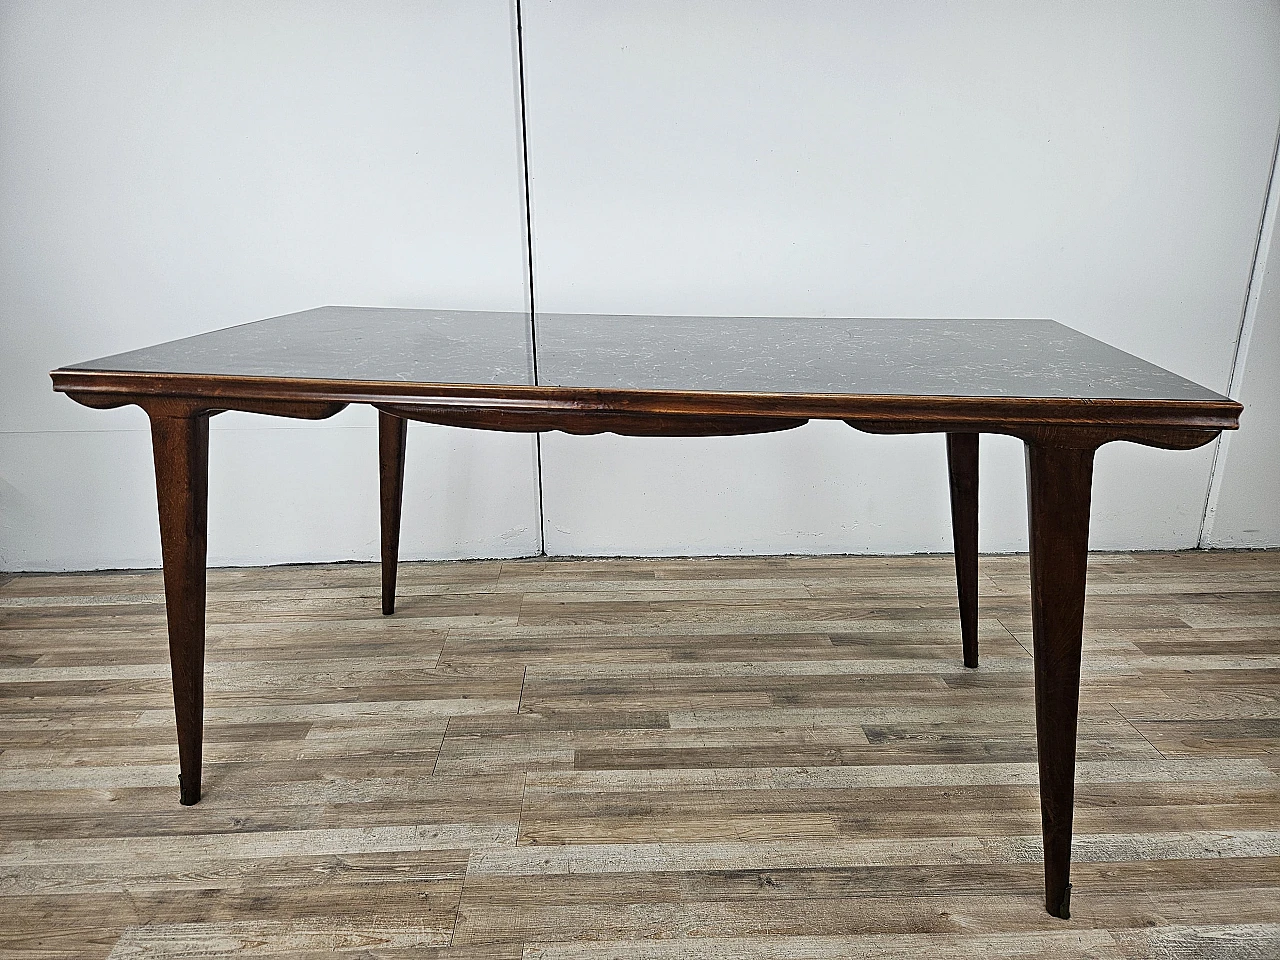
[[[1216,467],[1103,448],[1094,545],[1280,544],[1280,6],[524,26],[540,310],[1052,316],[1249,404]],[[0,568],[159,562],[145,417],[54,366],[321,303],[524,308],[513,45],[508,0],[0,0]],[[210,562],[374,557],[374,434],[218,417]],[[941,438],[549,434],[543,475],[552,553],[950,544]],[[983,549],[1024,547],[1023,504],[1020,445],[984,438]],[[406,557],[529,554],[538,525],[530,438],[411,426]]]

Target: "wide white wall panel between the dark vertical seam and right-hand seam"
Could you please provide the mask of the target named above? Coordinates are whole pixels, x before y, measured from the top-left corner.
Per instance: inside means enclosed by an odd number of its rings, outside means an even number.
[[[539,310],[1050,316],[1226,389],[1275,4],[529,0],[524,20]],[[553,552],[950,544],[941,438],[543,453]],[[1211,462],[1103,448],[1093,545],[1196,545]],[[1280,495],[1230,489],[1245,512]],[[984,439],[984,549],[1025,549],[1024,502],[1020,444]]]

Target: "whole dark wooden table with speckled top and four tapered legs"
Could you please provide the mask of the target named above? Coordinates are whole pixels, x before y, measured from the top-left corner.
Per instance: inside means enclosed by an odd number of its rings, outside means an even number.
[[[408,420],[481,430],[723,436],[844,420],[947,438],[964,662],[978,666],[978,435],[1027,445],[1036,739],[1048,911],[1070,911],[1093,453],[1190,449],[1242,407],[1051,320],[538,316],[320,307],[52,371],[151,419],[180,800],[200,800],[209,417],[379,411],[383,612],[396,603]]]

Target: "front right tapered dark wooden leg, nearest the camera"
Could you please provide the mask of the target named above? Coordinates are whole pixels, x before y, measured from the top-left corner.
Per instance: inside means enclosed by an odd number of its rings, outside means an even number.
[[[1044,906],[1071,909],[1071,814],[1093,449],[1027,444]]]

